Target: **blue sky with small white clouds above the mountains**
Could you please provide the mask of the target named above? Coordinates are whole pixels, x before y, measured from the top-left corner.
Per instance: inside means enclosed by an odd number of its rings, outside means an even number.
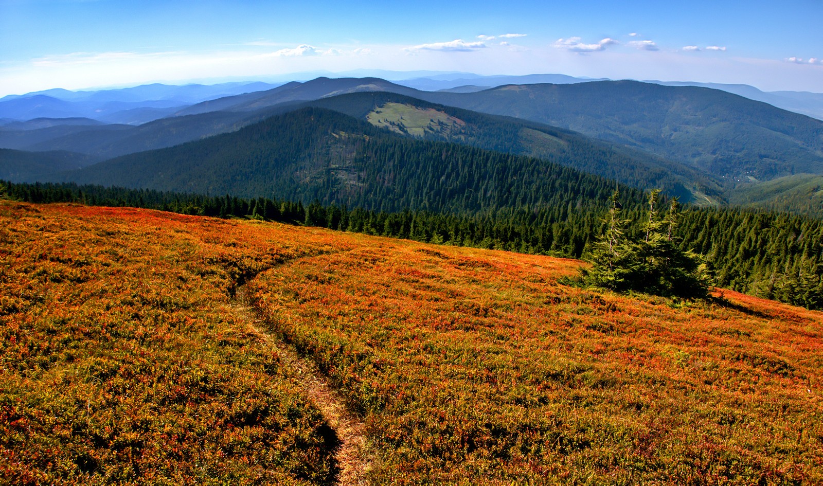
[[[823,92],[821,23],[821,0],[0,0],[0,96],[354,69]]]

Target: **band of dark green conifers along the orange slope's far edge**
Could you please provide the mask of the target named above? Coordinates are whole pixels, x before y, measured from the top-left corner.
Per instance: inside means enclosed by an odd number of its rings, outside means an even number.
[[[623,201],[612,195],[609,204],[604,199],[599,206],[565,201],[552,206],[437,212],[350,209],[316,200],[304,204],[300,200],[276,197],[203,196],[74,183],[0,182],[0,185],[7,197],[36,203],[78,202],[91,206],[143,207],[188,215],[253,218],[597,262],[604,260],[604,238],[619,233],[617,239],[624,238],[622,244],[633,244],[639,251],[630,260],[635,264],[653,264],[658,276],[659,272],[672,271],[672,268],[693,273],[696,268],[690,263],[694,262],[691,255],[702,255],[698,265],[706,264],[701,272],[711,275],[714,285],[806,308],[823,308],[823,221],[769,211],[736,208],[683,211],[680,207],[675,208],[676,218],[672,220],[673,200],[657,193],[654,193],[651,207],[648,198],[643,201],[630,194],[623,197]],[[660,211],[659,208],[664,206],[668,209]],[[680,262],[686,266],[670,265],[674,251],[678,252],[678,258],[687,257],[688,262]],[[661,252],[663,257],[667,252],[670,254],[667,267],[659,266]],[[671,280],[669,277],[667,279]],[[638,275],[631,278],[636,279]],[[666,279],[657,281],[656,285],[666,285],[660,283]],[[623,284],[603,286],[624,288]],[[681,286],[682,282],[678,284]],[[641,290],[654,291],[651,288]],[[667,293],[659,287],[656,291]],[[671,289],[668,292],[672,293]]]

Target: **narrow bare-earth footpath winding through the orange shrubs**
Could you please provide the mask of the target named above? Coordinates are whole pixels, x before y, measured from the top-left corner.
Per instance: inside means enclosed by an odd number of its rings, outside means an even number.
[[[290,345],[272,338],[267,333],[257,312],[246,303],[244,290],[242,286],[239,287],[237,297],[231,301],[236,315],[244,322],[248,322],[250,331],[266,342],[272,352],[277,353],[281,361],[300,378],[309,399],[317,405],[323,418],[337,434],[340,445],[334,458],[339,471],[335,484],[365,486],[368,484],[365,475],[371,463],[365,451],[365,424],[360,417],[348,410],[346,400],[331,386],[311,360],[301,358]]]

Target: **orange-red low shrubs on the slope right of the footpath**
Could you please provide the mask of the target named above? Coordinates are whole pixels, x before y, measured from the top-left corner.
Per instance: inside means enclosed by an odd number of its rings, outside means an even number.
[[[823,481],[819,312],[627,298],[559,285],[575,261],[356,241],[249,285],[365,414],[374,484]]]

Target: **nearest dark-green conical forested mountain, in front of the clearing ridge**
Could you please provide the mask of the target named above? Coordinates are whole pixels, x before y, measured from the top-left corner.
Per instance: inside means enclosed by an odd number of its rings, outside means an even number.
[[[238,132],[108,160],[60,179],[319,199],[384,211],[539,208],[559,201],[583,205],[605,201],[615,186],[546,160],[412,140],[314,108],[268,118]]]

